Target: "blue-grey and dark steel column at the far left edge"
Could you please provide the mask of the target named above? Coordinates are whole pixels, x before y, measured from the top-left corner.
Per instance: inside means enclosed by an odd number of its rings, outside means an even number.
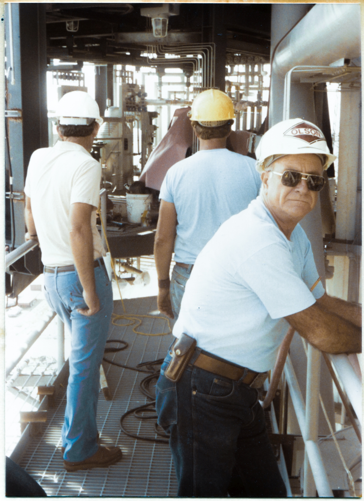
[[[45,4],[8,3],[5,41],[5,109],[17,110],[16,117],[6,119],[12,189],[21,193],[31,154],[48,146]],[[13,206],[18,246],[24,242],[24,200],[13,200]],[[6,219],[8,208],[6,203]],[[10,238],[6,234],[6,239]]]

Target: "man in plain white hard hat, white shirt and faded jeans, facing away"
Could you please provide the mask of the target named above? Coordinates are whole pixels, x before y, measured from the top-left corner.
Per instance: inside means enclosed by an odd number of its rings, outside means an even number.
[[[44,294],[71,333],[67,404],[62,427],[67,471],[120,460],[119,447],[97,444],[99,367],[112,313],[112,289],[96,228],[101,166],[90,151],[102,118],[87,93],[58,102],[60,138],[31,155],[24,191],[25,239],[39,241]]]

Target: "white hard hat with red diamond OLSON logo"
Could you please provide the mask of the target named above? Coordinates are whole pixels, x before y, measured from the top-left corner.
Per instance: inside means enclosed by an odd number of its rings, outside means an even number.
[[[317,125],[302,118],[283,120],[273,125],[261,138],[255,151],[256,170],[263,172],[266,160],[273,155],[302,153],[313,153],[323,158],[323,169],[327,169],[336,159],[330,153],[325,137]]]

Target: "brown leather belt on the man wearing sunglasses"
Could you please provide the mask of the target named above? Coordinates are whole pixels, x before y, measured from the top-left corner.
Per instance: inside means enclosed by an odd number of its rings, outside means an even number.
[[[254,372],[245,367],[236,367],[235,365],[229,364],[228,362],[223,362],[213,357],[209,357],[203,353],[200,353],[196,360],[193,362],[195,367],[203,369],[218,376],[227,377],[234,381],[238,381],[244,373],[247,371],[242,383],[251,386],[254,383],[254,388],[259,388],[265,381],[268,373],[267,372]]]

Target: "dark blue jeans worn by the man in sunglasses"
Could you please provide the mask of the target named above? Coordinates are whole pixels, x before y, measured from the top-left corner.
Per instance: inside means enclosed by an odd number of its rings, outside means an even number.
[[[158,424],[170,432],[177,495],[285,497],[257,391],[191,365],[173,383],[163,375],[170,358],[155,392]]]

